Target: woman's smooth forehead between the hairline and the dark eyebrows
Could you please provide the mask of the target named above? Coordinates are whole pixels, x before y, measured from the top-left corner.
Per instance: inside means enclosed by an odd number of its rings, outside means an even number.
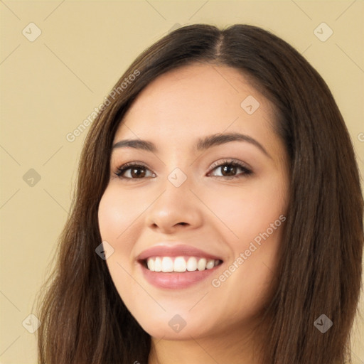
[[[274,106],[240,71],[210,64],[188,65],[156,78],[124,115],[114,140],[191,142],[198,136],[242,132],[272,134]]]

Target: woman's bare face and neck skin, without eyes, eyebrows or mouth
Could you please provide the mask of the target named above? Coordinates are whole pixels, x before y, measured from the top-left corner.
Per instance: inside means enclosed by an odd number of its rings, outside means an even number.
[[[249,95],[260,104],[252,114],[240,106]],[[139,138],[158,148],[156,153],[114,149],[99,208],[102,240],[114,248],[107,267],[115,287],[152,337],[149,364],[261,363],[253,352],[258,340],[252,328],[269,303],[284,223],[243,264],[236,259],[287,211],[287,152],[274,123],[272,103],[238,70],[193,64],[151,82],[119,124],[114,143]],[[247,141],[194,149],[199,137],[226,132],[249,135],[269,156]],[[210,168],[224,159],[242,161],[253,173],[237,168],[232,176],[238,178],[232,179],[222,167]],[[144,177],[133,177],[131,169],[124,173],[129,179],[117,177],[117,168],[128,162],[146,164],[138,170]],[[168,181],[174,168],[187,177],[178,188]],[[137,255],[158,242],[177,240],[221,257],[223,264],[192,287],[152,286]],[[235,272],[213,287],[212,280],[233,262]],[[179,332],[168,325],[176,314],[186,321]]]

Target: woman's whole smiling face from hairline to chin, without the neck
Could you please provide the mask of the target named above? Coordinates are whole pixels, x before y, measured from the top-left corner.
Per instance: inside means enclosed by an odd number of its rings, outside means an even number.
[[[274,123],[242,73],[198,64],[151,82],[119,124],[99,227],[151,336],[233,333],[267,304],[289,184]]]

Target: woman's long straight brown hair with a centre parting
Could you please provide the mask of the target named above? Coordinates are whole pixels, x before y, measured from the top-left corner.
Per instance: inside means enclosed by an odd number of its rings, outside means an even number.
[[[95,253],[102,241],[97,209],[123,115],[156,77],[194,62],[228,65],[249,76],[275,106],[277,134],[289,155],[289,208],[277,287],[263,316],[269,318],[261,337],[264,363],[350,360],[362,273],[363,196],[353,146],[333,95],[319,73],[272,33],[248,25],[220,30],[196,24],[169,33],[139,55],[90,127],[56,265],[38,299],[39,363],[148,362],[151,338],[127,310],[105,261]],[[321,314],[333,321],[326,333],[314,325]]]

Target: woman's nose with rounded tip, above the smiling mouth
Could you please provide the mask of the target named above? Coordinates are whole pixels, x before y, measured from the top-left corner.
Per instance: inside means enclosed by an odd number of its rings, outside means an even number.
[[[190,187],[188,180],[178,187],[167,180],[162,193],[146,210],[146,225],[163,233],[198,228],[203,220],[203,206]]]

